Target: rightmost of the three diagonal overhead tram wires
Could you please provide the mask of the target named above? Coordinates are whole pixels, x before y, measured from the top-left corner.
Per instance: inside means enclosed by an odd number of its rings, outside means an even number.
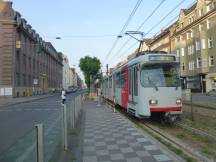
[[[178,3],[168,14],[166,14],[157,24],[155,24],[147,33],[144,33],[143,36],[148,35],[152,30],[154,30],[158,25],[160,25],[170,14],[172,14],[172,12],[174,12],[183,2],[185,2],[186,0],[182,0],[180,3]],[[177,18],[177,17],[175,17]],[[128,41],[129,42],[129,41]],[[131,48],[133,48],[138,42],[135,42],[134,44],[132,44],[127,50],[126,52],[128,52]],[[123,46],[121,47],[122,49],[124,48]],[[121,55],[119,55],[119,57],[122,57],[125,53],[121,53]]]

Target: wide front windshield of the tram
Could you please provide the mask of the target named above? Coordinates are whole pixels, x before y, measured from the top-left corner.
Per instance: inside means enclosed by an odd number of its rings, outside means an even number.
[[[180,86],[178,64],[143,65],[141,84],[144,87],[178,87]]]

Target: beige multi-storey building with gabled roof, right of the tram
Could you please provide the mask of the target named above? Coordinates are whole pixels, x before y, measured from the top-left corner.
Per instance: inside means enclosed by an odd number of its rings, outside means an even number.
[[[216,89],[216,2],[197,0],[180,11],[171,51],[180,57],[185,88]]]

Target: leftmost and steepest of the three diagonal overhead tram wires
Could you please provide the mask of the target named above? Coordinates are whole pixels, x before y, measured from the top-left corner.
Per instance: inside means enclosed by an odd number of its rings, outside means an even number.
[[[136,5],[135,5],[135,7],[134,7],[134,9],[133,9],[133,11],[130,13],[128,19],[126,20],[126,22],[125,22],[124,26],[122,27],[122,29],[121,29],[121,31],[120,31],[120,33],[119,33],[118,36],[121,36],[121,35],[124,33],[125,29],[126,29],[127,26],[129,25],[129,23],[130,23],[130,21],[132,20],[132,18],[134,17],[134,15],[135,15],[137,9],[139,8],[140,4],[142,3],[142,1],[143,1],[143,0],[138,0],[138,1],[137,1]],[[108,52],[107,55],[105,56],[104,61],[110,56],[110,54],[112,53],[113,49],[116,47],[116,45],[117,45],[117,43],[118,43],[118,41],[119,41],[119,37],[118,37],[118,36],[117,36],[117,38],[115,39],[114,43],[112,44],[112,46],[111,46],[109,52]],[[103,63],[104,63],[104,61],[103,61]]]

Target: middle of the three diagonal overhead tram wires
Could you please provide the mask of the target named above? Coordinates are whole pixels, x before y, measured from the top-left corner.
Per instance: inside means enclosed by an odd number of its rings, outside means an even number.
[[[142,24],[137,28],[137,31],[140,30],[145,23],[155,14],[155,12],[161,7],[161,5],[165,2],[166,0],[162,0],[155,8],[154,10],[149,14],[148,17],[146,17],[146,19],[142,22]],[[123,48],[130,42],[131,38],[128,38],[126,40],[126,42],[121,46],[121,48],[115,53],[115,55],[113,55],[112,59],[116,58],[117,56],[119,56],[119,53],[123,50]]]

